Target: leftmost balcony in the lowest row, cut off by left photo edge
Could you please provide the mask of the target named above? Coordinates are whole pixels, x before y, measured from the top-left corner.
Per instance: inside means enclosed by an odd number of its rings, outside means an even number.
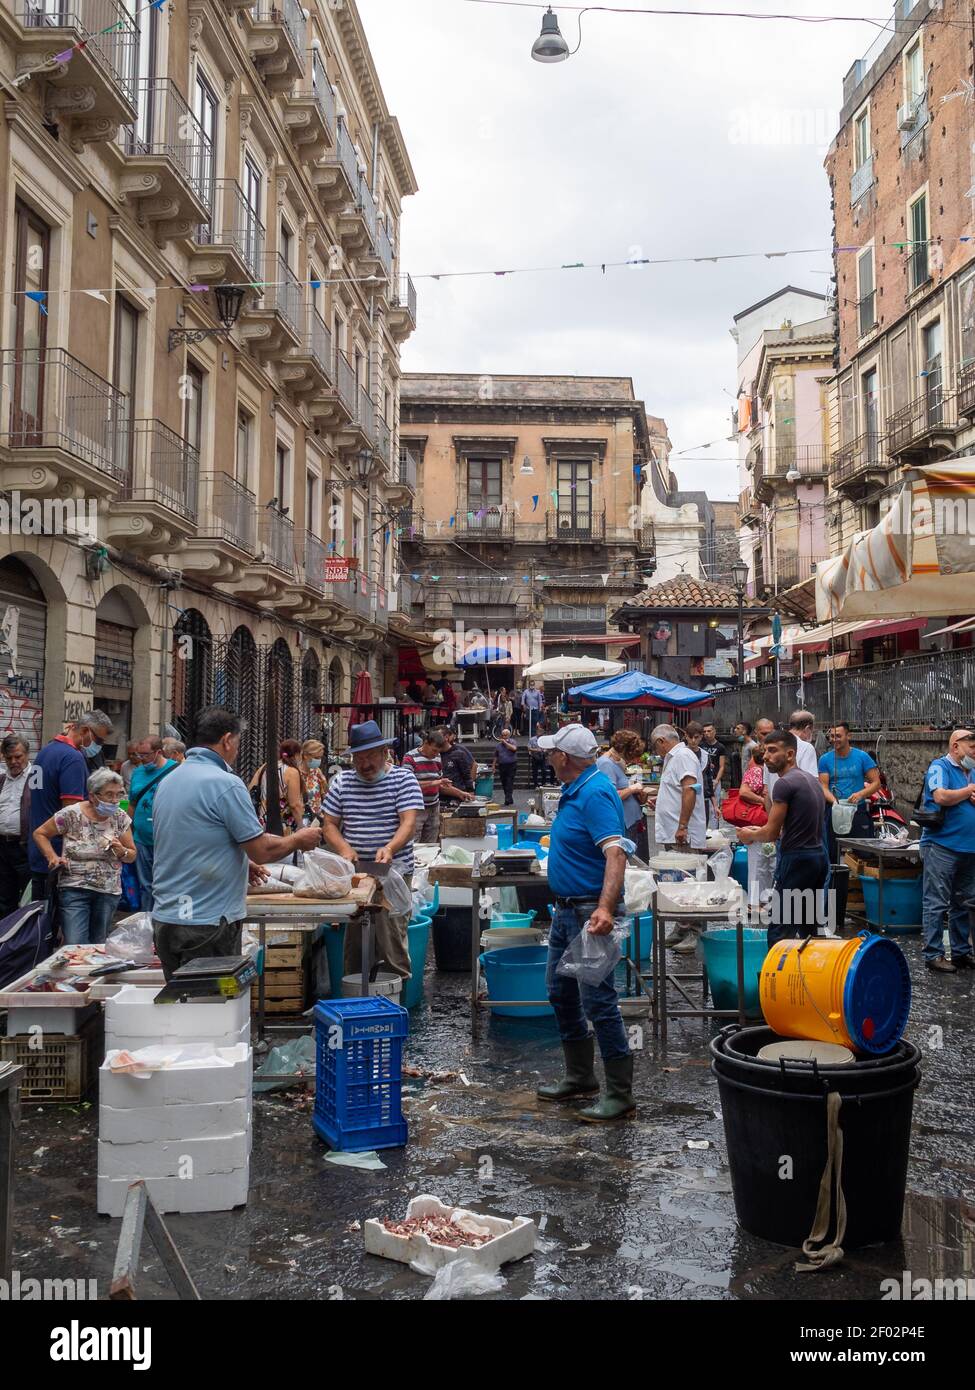
[[[64,495],[70,480],[82,496],[111,495],[128,473],[122,392],[61,348],[4,349],[0,364],[4,488]]]

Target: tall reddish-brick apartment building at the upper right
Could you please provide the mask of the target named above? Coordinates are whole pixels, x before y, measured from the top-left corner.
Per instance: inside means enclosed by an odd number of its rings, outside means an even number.
[[[971,14],[899,0],[892,29],[847,72],[826,158],[833,553],[876,524],[905,468],[975,442]]]

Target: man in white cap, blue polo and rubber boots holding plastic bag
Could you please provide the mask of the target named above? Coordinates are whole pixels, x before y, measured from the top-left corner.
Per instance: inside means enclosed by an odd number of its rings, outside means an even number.
[[[556,974],[556,969],[587,922],[587,930],[595,935],[612,931],[626,869],[623,803],[606,774],[595,766],[598,744],[591,730],[566,724],[558,734],[542,735],[538,746],[562,783],[548,851],[555,916],[548,937],[545,986],[562,1036],[566,1074],[562,1081],[538,1087],[537,1094],[541,1101],[570,1101],[598,1093],[591,1024],[606,1073],[606,1094],[580,1111],[579,1118],[597,1123],[615,1120],[634,1111],[636,1102],[633,1055],[612,972],[601,984],[587,986]]]

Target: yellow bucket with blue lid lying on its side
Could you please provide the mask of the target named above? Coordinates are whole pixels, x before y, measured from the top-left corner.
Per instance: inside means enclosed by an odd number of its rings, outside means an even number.
[[[759,998],[779,1037],[882,1054],[907,1027],[911,974],[887,937],[787,940],[765,956]]]

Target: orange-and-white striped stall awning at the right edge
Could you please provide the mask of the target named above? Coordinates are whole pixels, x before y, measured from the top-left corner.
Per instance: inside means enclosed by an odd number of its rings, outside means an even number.
[[[951,617],[975,598],[975,457],[918,468],[885,517],[816,567],[816,617]]]

